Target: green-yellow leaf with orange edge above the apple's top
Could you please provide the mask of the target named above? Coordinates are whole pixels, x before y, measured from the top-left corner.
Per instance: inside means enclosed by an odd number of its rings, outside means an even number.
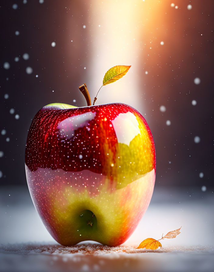
[[[131,66],[117,65],[110,68],[103,78],[102,85],[105,86],[109,83],[113,83],[121,77],[125,76]]]

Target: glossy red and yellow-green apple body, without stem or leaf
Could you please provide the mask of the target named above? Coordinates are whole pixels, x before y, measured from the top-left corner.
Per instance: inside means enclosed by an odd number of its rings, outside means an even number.
[[[118,246],[149,206],[154,141],[126,104],[49,104],[32,121],[25,168],[34,206],[58,243]]]

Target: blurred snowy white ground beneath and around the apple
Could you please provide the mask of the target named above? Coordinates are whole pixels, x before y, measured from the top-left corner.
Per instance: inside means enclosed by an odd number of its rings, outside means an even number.
[[[37,215],[27,188],[0,189],[0,271],[212,271],[214,198],[199,189],[154,191],[147,213],[123,246],[57,244]],[[136,250],[148,237],[178,229],[156,251]]]

